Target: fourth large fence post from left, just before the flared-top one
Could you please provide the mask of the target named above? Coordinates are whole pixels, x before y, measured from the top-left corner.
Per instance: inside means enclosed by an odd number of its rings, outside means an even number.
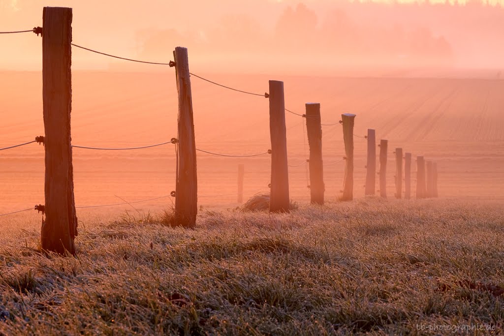
[[[306,134],[310,149],[310,198],[311,204],[324,205],[324,165],[322,162],[322,125],[320,104],[306,104]]]

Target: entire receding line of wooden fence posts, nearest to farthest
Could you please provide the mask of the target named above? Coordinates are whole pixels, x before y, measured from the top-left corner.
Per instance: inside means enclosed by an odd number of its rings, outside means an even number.
[[[45,7],[42,32],[43,118],[45,148],[45,203],[39,207],[45,213],[42,220],[42,249],[75,254],[77,217],[74,200],[71,122],[72,109],[72,9]],[[187,49],[173,52],[178,93],[178,128],[174,218],[177,225],[194,227],[198,212],[198,180],[196,170],[196,140],[193,119],[191,79]],[[283,82],[269,82],[271,136],[270,212],[287,212],[290,206],[285,128]],[[266,95],[268,97],[268,95]],[[319,103],[306,104],[306,128],[309,144],[309,178],[312,204],[324,204],[324,172],[322,160],[322,124]],[[354,114],[342,114],[345,142],[345,178],[343,200],[353,198],[353,128]],[[375,135],[368,130],[368,162],[366,194],[374,194]],[[387,141],[380,145],[380,190],[386,196],[385,176]],[[399,157],[401,151],[396,150]],[[409,158],[409,159],[408,159]],[[408,162],[409,160],[409,162]],[[406,154],[406,198],[409,198],[411,155]],[[402,159],[401,159],[402,162]],[[423,157],[418,157],[417,197],[437,194],[436,165],[427,163],[427,185]],[[398,165],[399,167],[399,165]],[[401,164],[402,167],[402,164]],[[399,171],[399,168],[398,168]],[[244,166],[238,168],[238,201],[243,201]],[[398,172],[398,178],[402,176]],[[397,195],[401,193],[399,181]],[[435,190],[435,191],[434,191]]]

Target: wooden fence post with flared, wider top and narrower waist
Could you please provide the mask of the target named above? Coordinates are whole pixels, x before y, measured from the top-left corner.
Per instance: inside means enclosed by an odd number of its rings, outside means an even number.
[[[341,200],[353,199],[353,125],[355,114],[344,113],[341,115],[343,124],[343,140],[345,141],[345,179],[343,180],[343,195]]]

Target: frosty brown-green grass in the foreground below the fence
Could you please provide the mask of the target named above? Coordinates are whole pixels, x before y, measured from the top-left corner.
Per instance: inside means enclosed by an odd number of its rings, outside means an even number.
[[[42,256],[37,225],[4,226],[0,332],[488,334],[503,221],[499,205],[374,197],[203,211],[196,230],[130,214],[85,220],[77,258]]]

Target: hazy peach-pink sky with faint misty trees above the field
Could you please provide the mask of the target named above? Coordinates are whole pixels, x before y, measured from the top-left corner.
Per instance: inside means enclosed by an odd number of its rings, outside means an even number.
[[[504,0],[68,1],[0,0],[0,31],[42,25],[43,6],[72,7],[73,41],[165,62],[175,46],[217,72],[501,69]],[[41,41],[3,35],[0,70],[41,69]],[[73,68],[134,70],[73,51]]]

